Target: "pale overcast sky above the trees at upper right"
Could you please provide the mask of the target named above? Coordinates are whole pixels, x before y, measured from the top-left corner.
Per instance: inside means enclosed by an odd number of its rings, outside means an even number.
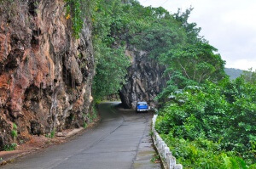
[[[138,0],[143,6],[177,8],[192,6],[189,22],[201,27],[201,36],[218,48],[225,67],[256,69],[256,0]]]

